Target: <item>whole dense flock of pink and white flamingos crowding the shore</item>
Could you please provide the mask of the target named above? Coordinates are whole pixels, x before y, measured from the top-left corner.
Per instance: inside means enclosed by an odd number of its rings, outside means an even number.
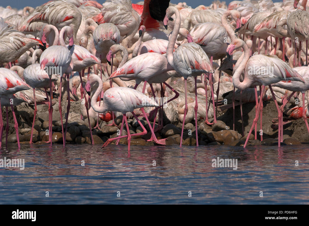
[[[192,8],[185,2],[175,5],[169,0],[139,4],[130,0],[107,0],[103,4],[54,0],[23,10],[0,7],[0,107],[6,107],[6,114],[7,107],[12,108],[18,134],[14,105],[25,101],[35,105],[33,132],[36,104],[44,102],[49,106],[52,131],[53,92],[58,92],[62,122],[63,88],[70,91],[66,122],[62,123],[63,145],[72,98],[82,100],[89,126],[90,117],[112,120],[111,125],[116,125],[114,113],[121,113],[124,117],[119,137],[108,139],[103,147],[127,138],[130,149],[131,136],[147,133],[136,109],[148,125],[148,116],[156,120],[158,114],[158,128],[162,128],[164,105],[182,97],[177,102],[183,106],[178,108],[183,114],[180,140],[190,109],[194,111],[197,138],[197,114],[209,125],[217,123],[219,102],[230,91],[233,108],[240,104],[242,109],[243,102],[256,103],[249,134],[254,127],[256,131],[262,117],[265,95],[273,99],[278,111],[278,139],[282,141],[284,106],[300,95],[302,101],[290,113],[303,117],[309,132],[306,4],[307,0],[244,0],[229,5],[215,1],[210,6]],[[74,72],[79,76],[72,76]],[[142,90],[138,88],[141,83]],[[164,96],[167,101],[150,98]],[[149,114],[144,107],[151,109]],[[129,131],[129,115],[136,118],[143,132],[121,136],[124,124]],[[213,122],[209,118],[214,118]],[[2,117],[0,120],[2,138]],[[155,136],[155,121],[149,128],[152,136],[148,141],[165,145],[165,139]],[[248,140],[249,135],[244,147]],[[50,145],[51,141],[49,133]]]

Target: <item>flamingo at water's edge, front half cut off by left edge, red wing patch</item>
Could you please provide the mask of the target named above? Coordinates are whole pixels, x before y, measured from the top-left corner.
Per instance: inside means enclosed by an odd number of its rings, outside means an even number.
[[[15,72],[13,72],[13,71],[11,71],[7,68],[0,68],[0,98],[2,96],[12,97],[11,96],[12,94],[19,92],[21,90],[27,90],[27,89],[30,89],[30,86],[27,83],[25,83],[23,80],[21,80]],[[16,119],[16,116],[15,116],[13,103],[10,102],[10,105],[11,105],[13,118],[14,118],[14,122],[15,122],[14,127],[15,127],[15,131],[16,131],[18,148],[20,148],[19,135],[18,135],[18,123],[17,123],[17,119]],[[0,102],[0,109],[1,109],[1,102]],[[3,120],[2,120],[2,116],[1,116],[1,118],[0,118],[0,138],[1,138],[0,139],[0,147],[1,147],[1,143],[2,143],[2,133],[3,133]]]

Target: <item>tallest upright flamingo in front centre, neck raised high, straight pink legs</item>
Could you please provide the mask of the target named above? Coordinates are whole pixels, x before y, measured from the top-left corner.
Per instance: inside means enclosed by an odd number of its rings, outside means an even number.
[[[184,108],[184,121],[182,124],[181,130],[181,138],[180,138],[180,147],[182,144],[182,136],[184,132],[184,122],[186,118],[186,113],[188,110],[187,104],[187,78],[189,76],[194,77],[195,83],[195,132],[196,132],[196,145],[198,146],[198,138],[197,138],[197,76],[202,73],[214,73],[214,69],[212,68],[209,58],[197,43],[185,43],[178,47],[175,52],[174,45],[177,39],[177,35],[180,29],[180,14],[176,7],[170,6],[166,10],[166,15],[164,17],[163,23],[165,28],[167,28],[167,22],[172,15],[176,15],[176,21],[174,30],[171,34],[171,37],[168,42],[166,58],[167,62],[178,72],[180,75],[184,77],[184,91],[185,91],[185,108]],[[212,92],[212,97],[214,100],[214,92]],[[214,114],[215,115],[215,114]],[[215,117],[214,117],[215,119]]]

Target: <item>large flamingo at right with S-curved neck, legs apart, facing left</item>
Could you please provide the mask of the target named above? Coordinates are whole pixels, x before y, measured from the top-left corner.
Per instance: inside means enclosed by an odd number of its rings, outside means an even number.
[[[275,105],[277,107],[278,111],[278,118],[281,118],[281,111],[278,107],[278,103],[276,101],[275,95],[273,93],[273,89],[271,84],[277,83],[279,81],[302,81],[304,82],[303,78],[290,66],[280,60],[277,57],[270,56],[270,55],[253,55],[250,57],[250,51],[246,43],[244,43],[243,40],[241,39],[235,39],[227,48],[226,50],[226,55],[229,58],[234,49],[242,47],[244,49],[244,56],[243,59],[240,61],[237,61],[237,69],[234,72],[233,75],[233,85],[240,89],[244,90],[245,88],[248,88],[252,85],[260,85],[262,84],[262,89],[260,91],[261,96],[264,94],[265,86],[269,86],[269,89],[272,93],[273,100],[275,101]],[[250,57],[250,59],[249,59]],[[236,67],[236,65],[235,65]],[[265,68],[265,72],[263,72],[263,69],[255,69],[256,67],[258,68]],[[244,80],[243,82],[240,82],[239,78],[242,73],[242,71],[245,70],[244,74]],[[247,146],[250,134],[252,133],[253,127],[256,125],[257,120],[259,119],[259,112],[261,105],[263,103],[263,98],[260,98],[259,106],[258,109],[256,110],[255,113],[255,118],[253,120],[253,124],[251,126],[251,129],[249,131],[249,134],[247,136],[246,142],[244,144],[244,147]],[[279,128],[281,128],[281,122],[279,120]],[[280,147],[280,129],[278,130],[278,137],[279,137],[279,142],[278,146]]]

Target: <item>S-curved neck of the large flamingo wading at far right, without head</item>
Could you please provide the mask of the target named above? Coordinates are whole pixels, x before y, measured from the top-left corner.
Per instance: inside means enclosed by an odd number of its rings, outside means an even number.
[[[244,52],[243,60],[241,61],[241,63],[239,64],[238,68],[235,70],[235,73],[233,75],[233,85],[240,90],[244,90],[245,88],[248,88],[251,86],[251,81],[248,75],[247,76],[245,75],[243,82],[240,82],[239,80],[240,75],[245,69],[246,64],[250,57],[248,46],[245,43],[243,43],[242,47],[243,47],[243,52]]]

